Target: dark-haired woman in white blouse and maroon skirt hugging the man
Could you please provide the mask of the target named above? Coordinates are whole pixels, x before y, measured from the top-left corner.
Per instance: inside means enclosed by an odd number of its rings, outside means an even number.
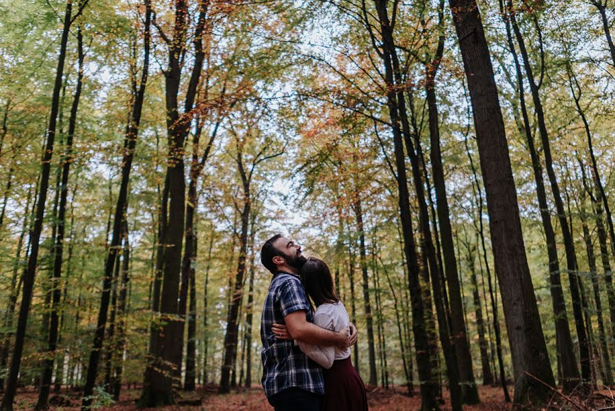
[[[335,294],[327,264],[317,258],[309,258],[302,266],[300,277],[316,306],[314,323],[335,332],[348,329],[350,317]],[[324,368],[325,395],[321,410],[367,410],[365,386],[350,361],[350,348],[322,347],[301,341],[298,345],[306,356]]]

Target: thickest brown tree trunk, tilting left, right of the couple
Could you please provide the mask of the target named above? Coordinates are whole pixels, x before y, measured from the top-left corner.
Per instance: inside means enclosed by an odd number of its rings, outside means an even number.
[[[473,107],[485,181],[495,271],[506,313],[514,368],[514,402],[548,401],[555,385],[525,256],[519,203],[489,49],[475,0],[449,0]],[[495,314],[495,312],[494,312]]]

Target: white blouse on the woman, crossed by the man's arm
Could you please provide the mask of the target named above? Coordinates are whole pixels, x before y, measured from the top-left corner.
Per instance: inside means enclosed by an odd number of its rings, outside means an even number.
[[[342,329],[349,327],[350,317],[341,301],[337,303],[325,303],[321,304],[316,309],[314,313],[314,324],[335,332],[340,332]],[[299,341],[299,348],[306,356],[326,369],[331,368],[333,361],[350,357],[350,347],[347,349],[339,349],[335,345],[322,347],[320,345],[311,345]]]

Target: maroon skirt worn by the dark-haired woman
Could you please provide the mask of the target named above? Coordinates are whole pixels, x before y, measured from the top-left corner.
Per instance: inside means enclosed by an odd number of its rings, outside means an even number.
[[[352,366],[350,356],[335,360],[324,370],[322,411],[367,411],[365,385]]]

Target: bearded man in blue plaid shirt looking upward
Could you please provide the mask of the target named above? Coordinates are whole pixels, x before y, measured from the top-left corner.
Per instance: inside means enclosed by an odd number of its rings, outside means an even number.
[[[261,315],[263,388],[276,411],[318,411],[324,394],[322,369],[293,340],[276,338],[274,324],[285,324],[291,338],[313,345],[356,343],[356,329],[332,332],[312,324],[312,312],[299,270],[306,262],[301,247],[276,234],[261,249],[261,263],[274,275]]]

